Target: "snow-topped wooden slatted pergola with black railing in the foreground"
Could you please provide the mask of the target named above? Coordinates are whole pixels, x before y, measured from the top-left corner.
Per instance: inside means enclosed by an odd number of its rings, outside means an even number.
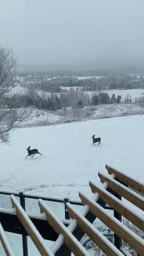
[[[15,209],[15,214],[41,255],[70,255],[71,252],[78,256],[89,255],[79,242],[84,233],[87,234],[106,255],[125,255],[121,247],[122,240],[137,252],[139,256],[144,255],[144,239],[138,237],[137,234],[132,232],[121,222],[123,216],[144,232],[144,217],[140,215],[139,212],[131,210],[129,205],[121,201],[122,197],[126,198],[134,206],[144,211],[144,197],[141,196],[144,194],[144,185],[125,176],[112,167],[107,165],[105,167],[109,175],[98,174],[103,185],[99,186],[93,181],[90,181],[89,185],[93,192],[93,197],[88,197],[85,193],[79,193],[80,200],[78,202],[72,202],[68,198],[48,198],[41,197],[40,195],[31,196],[28,193],[22,192],[13,193],[11,201],[12,207]],[[131,188],[141,193],[141,195],[131,190]],[[0,194],[2,193],[5,194],[4,190],[0,191]],[[12,194],[11,192],[6,193]],[[20,197],[20,203],[16,199],[17,196]],[[30,217],[26,214],[25,198],[39,199],[41,214],[45,216],[46,222],[58,235],[58,238],[50,248],[45,243],[44,238],[41,236],[36,226],[32,223]],[[67,219],[71,218],[67,226],[50,210],[48,205],[44,202],[45,200],[64,203],[65,217]],[[72,206],[72,204],[83,205],[81,212],[76,210],[76,207]],[[108,207],[105,207],[105,205],[108,205]],[[106,211],[107,208],[114,211],[114,216],[108,214]],[[114,232],[114,244],[108,241],[108,239],[91,224],[96,217]],[[26,238],[26,235],[23,235],[23,247],[25,243],[27,245]],[[2,227],[0,229],[0,239],[7,253],[6,255],[13,255],[12,251],[9,249],[8,242],[4,238]],[[23,250],[23,255],[27,256],[28,251]]]

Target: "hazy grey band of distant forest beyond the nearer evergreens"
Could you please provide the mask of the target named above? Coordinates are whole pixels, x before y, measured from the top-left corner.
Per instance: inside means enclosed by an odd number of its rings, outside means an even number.
[[[51,80],[45,80],[44,76],[33,76],[24,79],[20,82],[20,86],[27,89],[32,88],[35,90],[48,91],[51,93],[60,93],[61,87],[77,87],[83,91],[101,91],[101,90],[114,90],[114,89],[143,89],[144,88],[144,77],[140,76],[106,76],[102,78],[90,78],[84,80],[78,80],[73,77],[60,76],[57,78],[51,78]]]

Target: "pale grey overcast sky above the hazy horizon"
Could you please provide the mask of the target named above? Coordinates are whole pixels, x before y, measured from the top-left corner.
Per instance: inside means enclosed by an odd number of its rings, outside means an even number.
[[[144,0],[0,0],[0,44],[19,63],[144,63]]]

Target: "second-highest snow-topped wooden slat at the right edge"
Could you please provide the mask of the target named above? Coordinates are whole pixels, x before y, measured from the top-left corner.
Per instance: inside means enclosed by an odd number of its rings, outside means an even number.
[[[108,183],[108,187],[111,188],[113,191],[121,195],[122,197],[126,198],[129,202],[133,203],[141,210],[144,211],[144,198],[141,197],[139,194],[136,194],[131,189],[125,187],[124,185],[120,184],[118,181],[112,179],[110,176],[105,176],[103,174],[98,173],[100,177],[100,181],[104,183],[105,181]]]

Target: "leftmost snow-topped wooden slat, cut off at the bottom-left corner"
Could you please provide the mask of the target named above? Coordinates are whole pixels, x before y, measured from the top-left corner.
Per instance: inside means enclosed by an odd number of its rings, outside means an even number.
[[[6,256],[14,256],[14,253],[12,251],[12,248],[8,242],[8,239],[6,238],[4,229],[0,223],[0,241],[3,245],[4,251],[6,253]]]

